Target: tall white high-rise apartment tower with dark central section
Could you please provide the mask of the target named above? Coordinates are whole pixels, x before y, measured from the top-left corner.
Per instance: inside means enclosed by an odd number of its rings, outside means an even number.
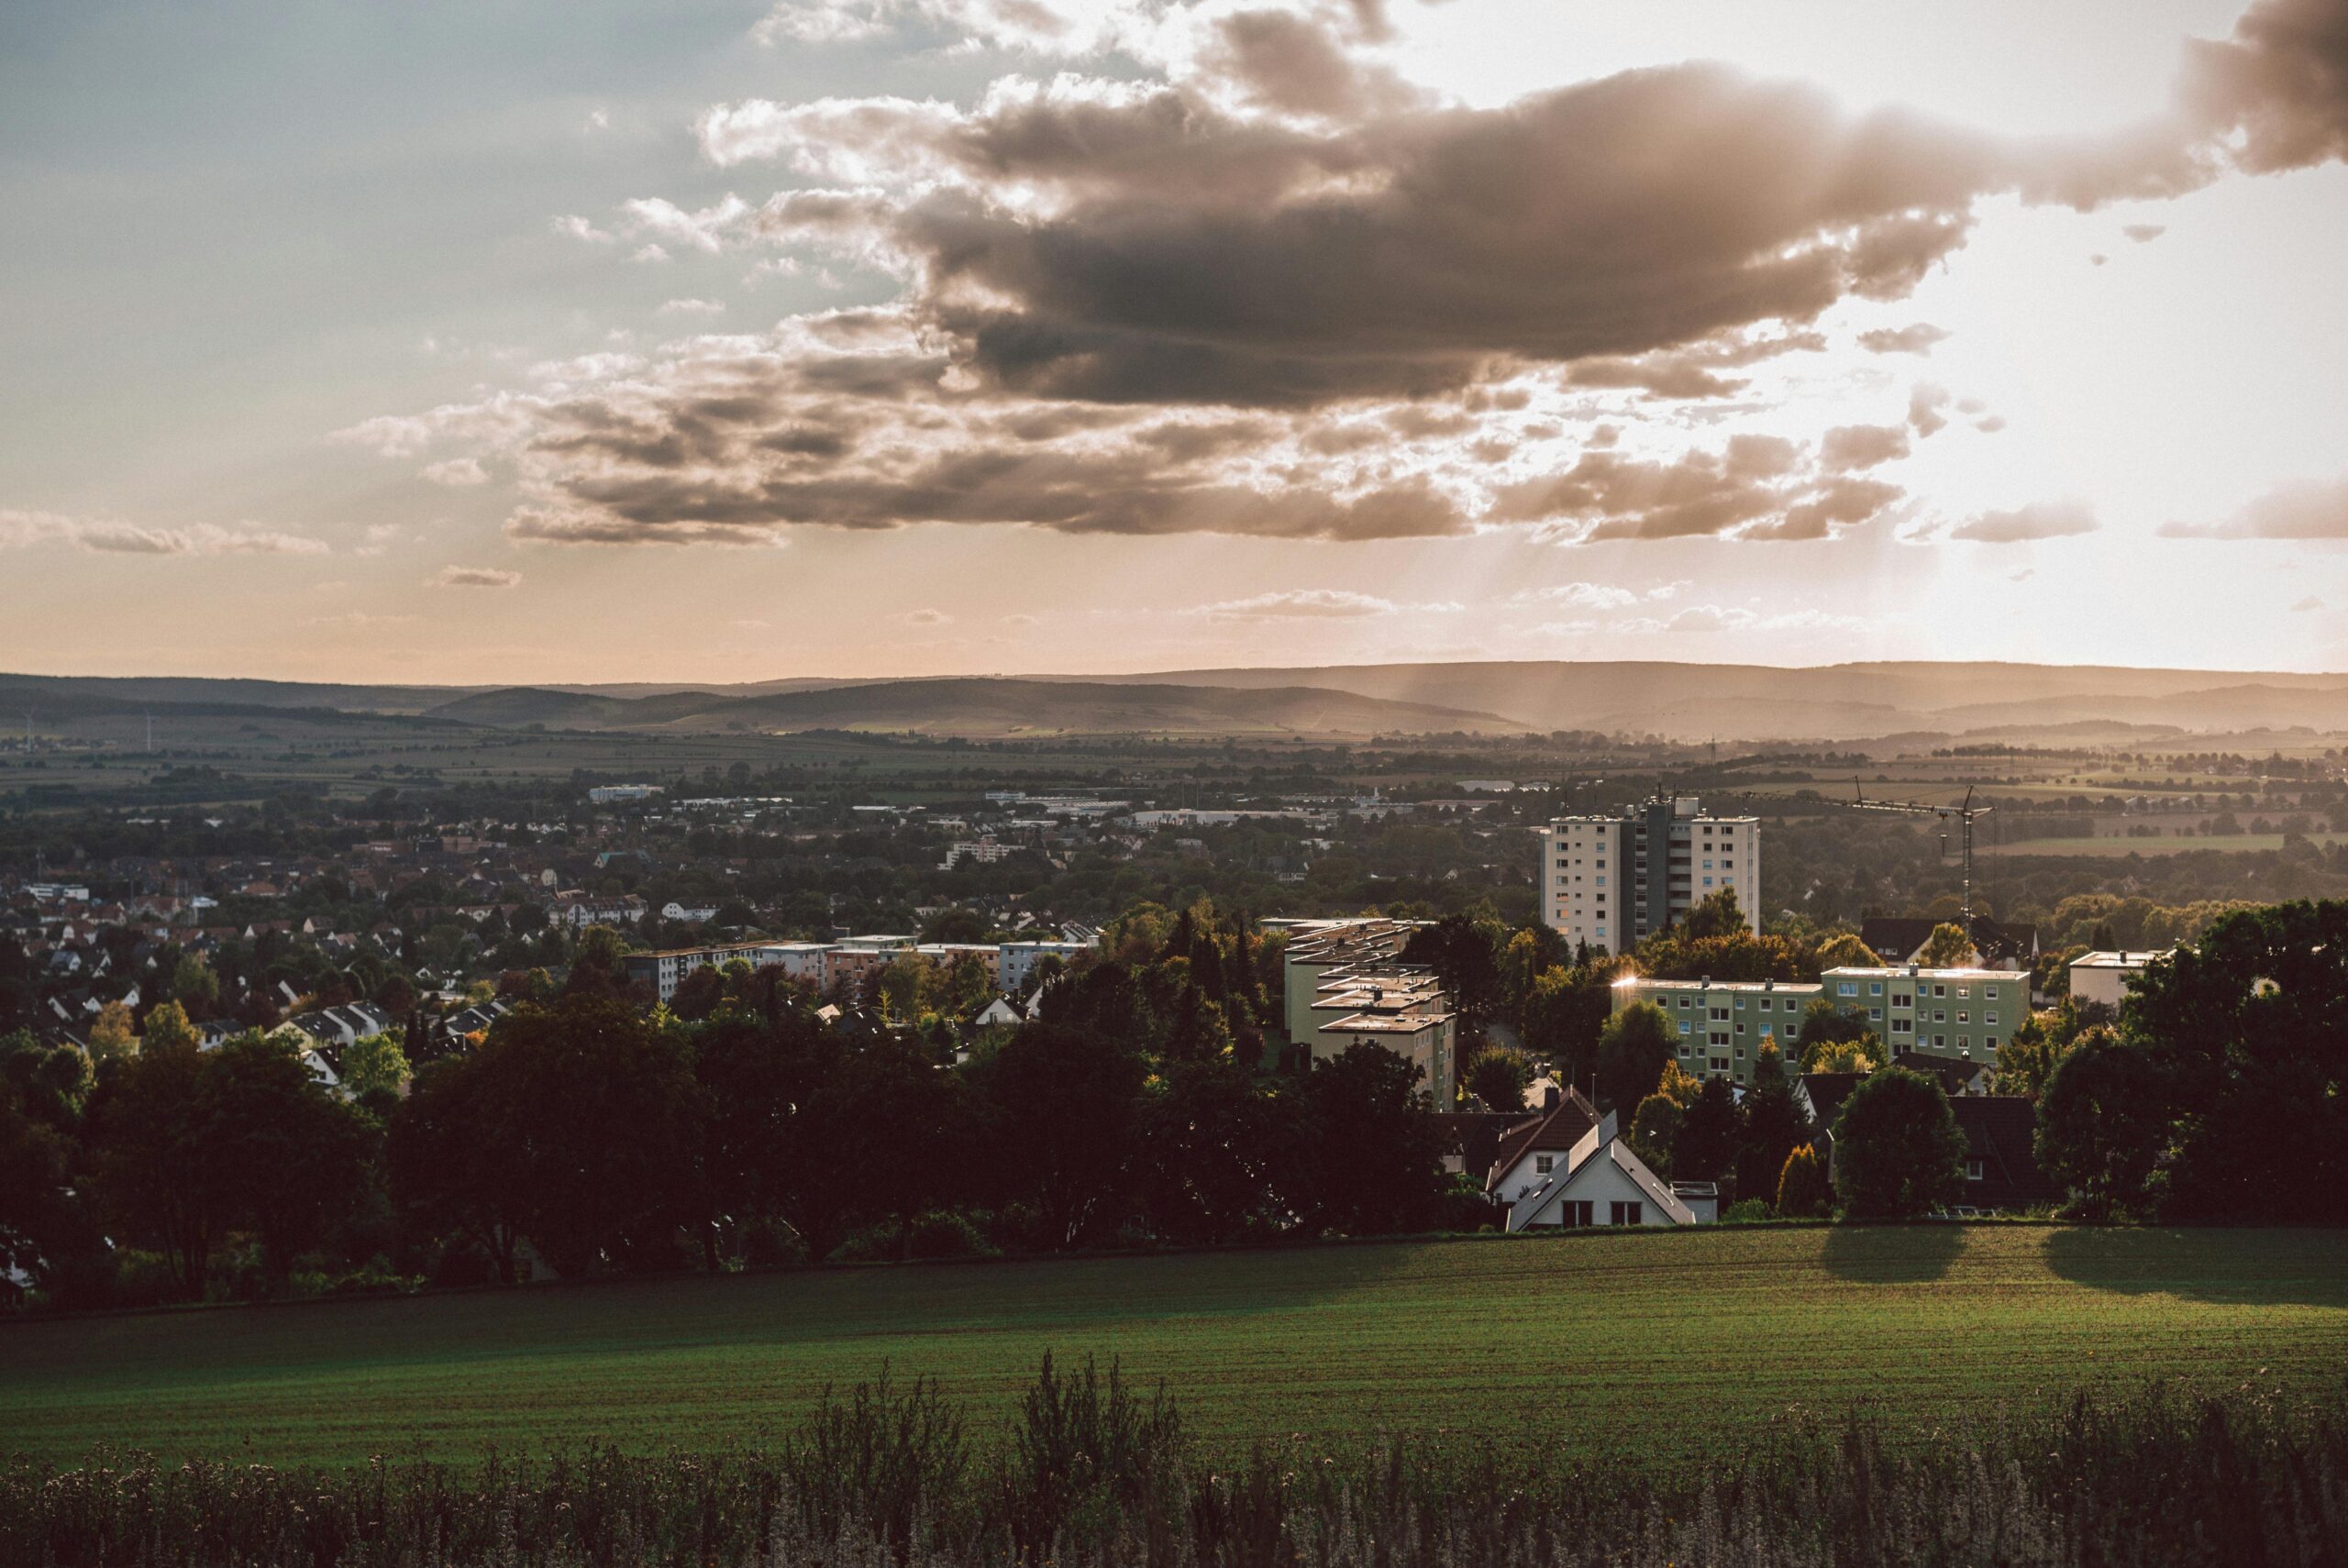
[[[1540,918],[1566,941],[1627,953],[1716,892],[1735,892],[1747,930],[1761,934],[1759,817],[1705,817],[1695,798],[1658,796],[1533,833]]]

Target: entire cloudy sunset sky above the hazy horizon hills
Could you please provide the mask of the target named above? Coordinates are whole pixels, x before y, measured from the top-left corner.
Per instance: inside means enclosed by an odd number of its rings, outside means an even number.
[[[0,667],[2348,669],[2348,0],[14,0]]]

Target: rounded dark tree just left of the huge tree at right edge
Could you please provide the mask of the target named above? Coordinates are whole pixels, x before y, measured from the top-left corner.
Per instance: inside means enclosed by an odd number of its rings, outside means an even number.
[[[2160,1059],[2092,1030],[2062,1059],[2038,1101],[2038,1164],[2078,1195],[2078,1214],[2111,1221],[2146,1207],[2167,1148]]]

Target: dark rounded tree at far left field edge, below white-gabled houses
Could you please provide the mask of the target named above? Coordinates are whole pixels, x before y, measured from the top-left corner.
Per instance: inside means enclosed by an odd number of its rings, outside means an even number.
[[[357,1207],[373,1153],[371,1122],[326,1091],[301,1052],[237,1035],[197,1077],[195,1148],[230,1221],[261,1235],[270,1279]]]

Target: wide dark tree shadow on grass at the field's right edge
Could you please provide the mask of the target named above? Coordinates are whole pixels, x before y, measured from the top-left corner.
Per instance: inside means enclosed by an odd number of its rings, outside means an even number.
[[[2348,1307],[2348,1230],[2064,1225],[2045,1258],[2071,1284],[2123,1296]]]

